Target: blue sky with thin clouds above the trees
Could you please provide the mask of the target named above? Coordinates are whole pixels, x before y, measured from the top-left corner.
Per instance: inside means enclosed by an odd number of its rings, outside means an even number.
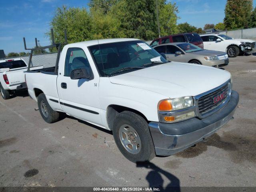
[[[222,22],[226,0],[171,0],[178,6],[178,23],[188,22],[196,27],[206,23]],[[27,47],[34,46],[34,38],[42,46],[48,45],[45,33],[57,7],[63,4],[88,7],[88,0],[2,0],[0,7],[0,49],[4,52],[22,52],[22,37]],[[256,0],[254,0],[254,7]]]

